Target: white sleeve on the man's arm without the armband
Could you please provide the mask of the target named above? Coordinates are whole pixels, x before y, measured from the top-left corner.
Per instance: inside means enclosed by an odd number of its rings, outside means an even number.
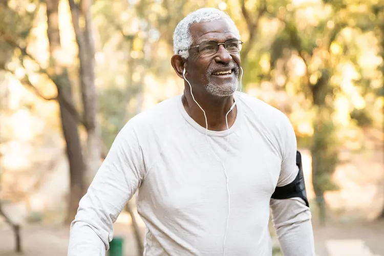
[[[117,135],[79,202],[68,256],[104,256],[113,238],[113,223],[142,182],[142,151],[131,121]]]

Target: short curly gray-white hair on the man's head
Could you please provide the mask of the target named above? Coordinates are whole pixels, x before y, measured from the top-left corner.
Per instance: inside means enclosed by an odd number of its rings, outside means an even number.
[[[174,53],[179,54],[184,59],[188,58],[188,48],[192,45],[192,37],[189,33],[189,27],[195,23],[213,22],[218,19],[227,19],[234,28],[238,38],[240,39],[240,33],[233,20],[225,12],[216,8],[201,8],[194,12],[189,13],[183,18],[175,28],[174,32]]]

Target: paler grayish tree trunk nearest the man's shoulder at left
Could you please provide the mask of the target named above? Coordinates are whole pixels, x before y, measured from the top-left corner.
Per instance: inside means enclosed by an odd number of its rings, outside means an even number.
[[[76,35],[80,63],[79,79],[81,86],[82,104],[84,109],[84,125],[87,130],[87,144],[84,150],[87,169],[87,184],[95,176],[100,161],[100,128],[96,120],[97,94],[95,87],[95,46],[92,34],[92,0],[82,0],[80,5],[69,0],[72,24]],[[79,19],[84,20],[80,28]]]

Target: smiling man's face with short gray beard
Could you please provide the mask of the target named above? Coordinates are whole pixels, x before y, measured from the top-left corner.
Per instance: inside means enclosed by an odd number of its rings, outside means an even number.
[[[224,43],[230,39],[239,39],[236,37],[236,28],[226,19],[193,24],[189,31],[193,39],[191,47],[207,41]],[[240,53],[229,53],[224,45],[219,45],[216,53],[204,54],[196,47],[189,50],[187,62],[188,80],[192,84],[201,86],[201,89],[217,97],[229,96],[236,91]]]

